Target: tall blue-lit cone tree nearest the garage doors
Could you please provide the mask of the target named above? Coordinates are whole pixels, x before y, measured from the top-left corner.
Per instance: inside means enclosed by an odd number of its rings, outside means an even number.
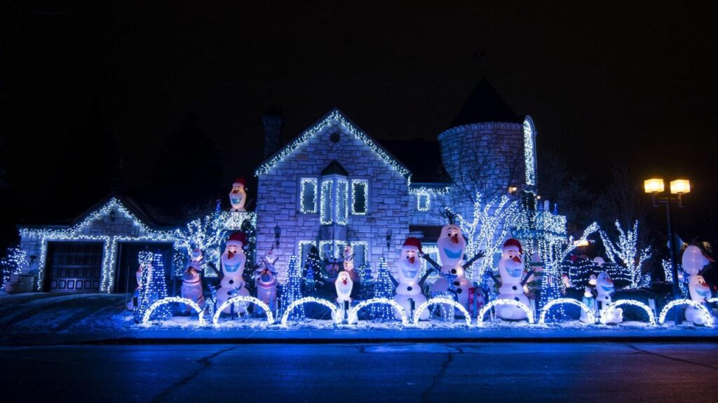
[[[139,305],[134,311],[135,321],[140,323],[144,313],[157,300],[167,298],[167,272],[164,269],[162,254],[146,250],[137,254],[137,262],[142,272],[139,291]],[[172,316],[170,305],[162,305],[152,312],[151,319],[168,319]]]

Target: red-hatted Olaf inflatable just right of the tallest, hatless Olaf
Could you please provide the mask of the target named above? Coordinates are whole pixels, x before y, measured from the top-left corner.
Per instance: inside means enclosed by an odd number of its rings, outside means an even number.
[[[523,292],[521,278],[523,277],[523,249],[521,242],[510,238],[503,244],[501,260],[498,262],[498,272],[501,276],[501,287],[498,289],[499,300],[515,300],[528,306],[528,298]],[[496,306],[496,316],[502,319],[526,319],[526,312],[515,305]]]

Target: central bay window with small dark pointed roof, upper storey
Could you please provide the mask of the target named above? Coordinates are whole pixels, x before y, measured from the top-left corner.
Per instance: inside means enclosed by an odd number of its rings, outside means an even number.
[[[320,216],[322,224],[347,224],[349,181],[347,171],[332,161],[322,171]]]

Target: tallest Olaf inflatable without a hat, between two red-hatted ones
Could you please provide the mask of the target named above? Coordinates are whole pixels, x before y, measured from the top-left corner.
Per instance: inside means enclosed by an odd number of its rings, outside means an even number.
[[[447,224],[442,227],[442,232],[437,240],[439,258],[442,261],[442,274],[452,279],[451,285],[447,278],[439,278],[432,285],[432,294],[443,293],[452,289],[456,291],[457,301],[469,309],[469,288],[470,281],[466,278],[464,267],[461,261],[464,258],[466,240],[461,234],[461,229],[456,224]]]

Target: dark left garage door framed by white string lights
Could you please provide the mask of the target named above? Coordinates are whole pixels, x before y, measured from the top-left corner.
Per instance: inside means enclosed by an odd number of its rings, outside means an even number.
[[[50,242],[45,290],[97,293],[102,272],[101,242]]]

